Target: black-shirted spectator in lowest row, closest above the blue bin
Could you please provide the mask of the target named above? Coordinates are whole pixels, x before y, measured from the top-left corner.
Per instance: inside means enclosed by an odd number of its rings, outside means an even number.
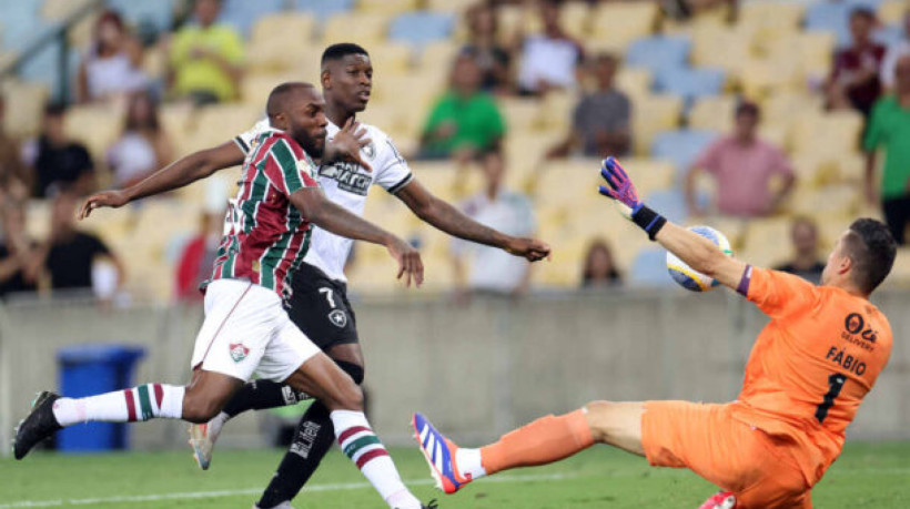
[[[39,248],[39,267],[47,271],[53,289],[92,289],[99,283],[93,273],[103,273],[93,271],[94,264],[107,259],[113,264],[115,284],[122,284],[124,271],[120,258],[100,238],[77,230],[77,202],[78,195],[67,189],[54,197],[51,233]]]

